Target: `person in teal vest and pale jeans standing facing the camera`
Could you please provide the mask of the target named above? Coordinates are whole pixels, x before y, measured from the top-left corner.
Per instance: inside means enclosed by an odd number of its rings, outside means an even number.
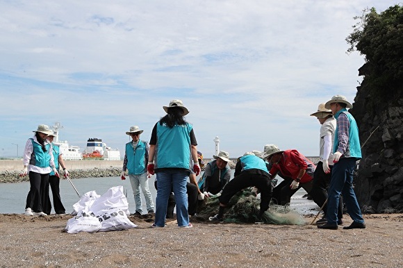
[[[135,215],[142,215],[142,203],[140,196],[140,187],[142,194],[145,197],[145,203],[148,214],[154,214],[154,202],[149,190],[149,183],[147,176],[147,162],[148,162],[148,143],[140,140],[140,134],[143,131],[138,126],[131,126],[126,134],[131,136],[131,142],[127,142],[124,151],[124,160],[122,174],[120,177],[125,180],[124,176],[126,169],[129,173],[131,188],[133,189]]]

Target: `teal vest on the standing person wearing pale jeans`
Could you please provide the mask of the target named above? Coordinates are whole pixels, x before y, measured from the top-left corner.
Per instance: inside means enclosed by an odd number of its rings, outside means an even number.
[[[129,174],[140,175],[145,173],[146,149],[147,144],[142,140],[138,141],[138,144],[135,147],[135,149],[133,148],[132,142],[126,143],[127,170],[129,171]]]

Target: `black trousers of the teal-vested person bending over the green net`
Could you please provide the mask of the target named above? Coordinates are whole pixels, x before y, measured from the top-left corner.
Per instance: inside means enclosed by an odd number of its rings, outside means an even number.
[[[255,174],[249,170],[242,171],[238,176],[229,181],[218,199],[220,203],[227,205],[231,197],[240,190],[251,186],[257,187],[259,192],[261,192],[261,210],[259,215],[263,215],[263,212],[268,210],[270,199],[272,198],[272,183],[268,176]]]

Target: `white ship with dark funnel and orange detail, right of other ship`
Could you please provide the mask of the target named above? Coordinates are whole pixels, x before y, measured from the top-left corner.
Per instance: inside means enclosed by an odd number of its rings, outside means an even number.
[[[106,143],[97,137],[90,137],[83,152],[83,159],[120,160],[120,151],[106,146]]]

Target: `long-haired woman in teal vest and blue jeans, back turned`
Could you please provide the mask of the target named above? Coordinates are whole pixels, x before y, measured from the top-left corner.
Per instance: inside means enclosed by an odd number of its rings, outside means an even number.
[[[186,183],[191,170],[196,176],[200,174],[197,141],[193,126],[184,118],[189,111],[181,100],[174,99],[163,109],[167,115],[155,124],[149,142],[147,170],[151,175],[155,172],[157,177],[156,217],[151,227],[165,226],[167,202],[172,189],[178,226],[191,228]]]

